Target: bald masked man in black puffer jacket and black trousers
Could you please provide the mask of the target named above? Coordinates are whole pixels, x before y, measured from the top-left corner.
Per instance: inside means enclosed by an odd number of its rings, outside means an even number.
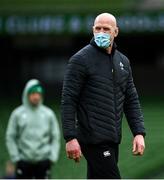
[[[125,113],[134,135],[133,154],[144,152],[145,128],[129,60],[116,49],[116,19],[96,17],[94,38],[73,55],[64,77],[62,125],[67,156],[87,160],[89,179],[121,178],[117,166]]]

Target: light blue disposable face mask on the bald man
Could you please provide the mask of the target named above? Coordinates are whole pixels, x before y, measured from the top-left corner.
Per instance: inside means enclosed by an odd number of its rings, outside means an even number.
[[[111,45],[110,35],[107,33],[94,33],[94,41],[100,48],[108,48]]]

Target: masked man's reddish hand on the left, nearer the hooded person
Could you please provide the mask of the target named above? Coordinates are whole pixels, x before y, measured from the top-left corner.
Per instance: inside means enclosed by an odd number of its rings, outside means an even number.
[[[75,162],[80,162],[82,153],[77,139],[72,139],[66,143],[66,153],[68,158],[74,159]]]

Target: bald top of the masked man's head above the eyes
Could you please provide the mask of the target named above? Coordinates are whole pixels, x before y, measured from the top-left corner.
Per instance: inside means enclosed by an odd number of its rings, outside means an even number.
[[[117,27],[116,18],[115,18],[112,14],[109,14],[109,13],[99,14],[99,15],[95,18],[94,26],[95,26],[97,23],[105,23],[105,24],[111,25],[112,27]]]

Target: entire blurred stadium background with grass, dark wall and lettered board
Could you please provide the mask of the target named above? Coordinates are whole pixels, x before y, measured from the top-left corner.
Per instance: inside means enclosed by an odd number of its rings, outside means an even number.
[[[60,122],[60,95],[67,61],[92,37],[96,15],[113,13],[120,28],[118,49],[130,59],[147,129],[143,157],[133,157],[132,135],[123,122],[119,166],[123,178],[164,178],[164,1],[163,0],[1,0],[0,1],[0,177],[9,159],[5,131],[30,78],[46,88],[45,104]],[[62,139],[52,178],[85,178],[80,164],[67,160]]]

